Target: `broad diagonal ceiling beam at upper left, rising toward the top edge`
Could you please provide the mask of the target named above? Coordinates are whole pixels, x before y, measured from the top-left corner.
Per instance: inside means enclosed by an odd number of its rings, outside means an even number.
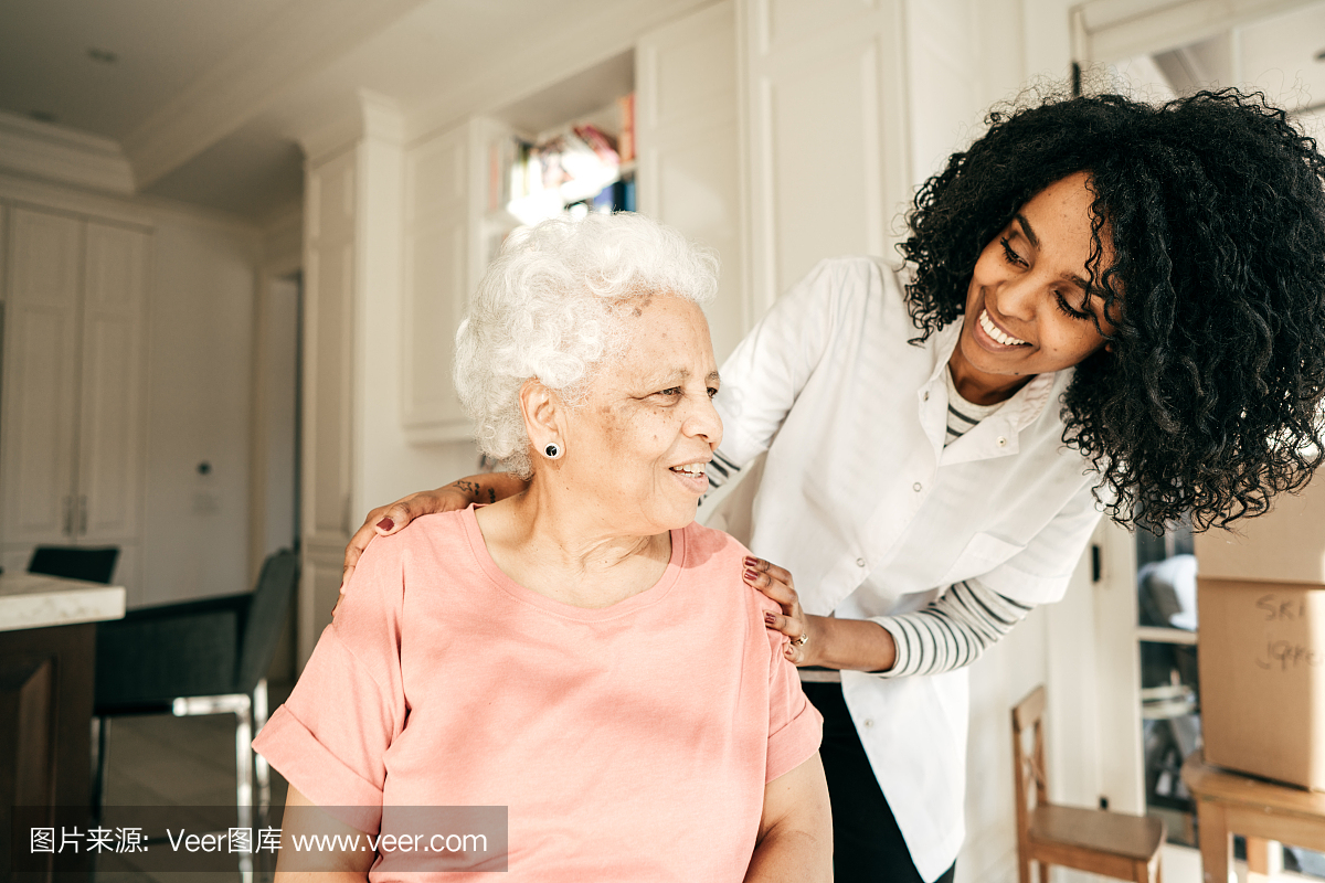
[[[293,0],[270,25],[130,132],[147,187],[268,109],[281,94],[425,0]]]

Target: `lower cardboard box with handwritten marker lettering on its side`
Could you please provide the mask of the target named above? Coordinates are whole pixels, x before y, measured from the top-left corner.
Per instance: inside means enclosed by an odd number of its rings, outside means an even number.
[[[1199,548],[1198,567],[1206,763],[1325,790],[1325,585],[1211,579]]]

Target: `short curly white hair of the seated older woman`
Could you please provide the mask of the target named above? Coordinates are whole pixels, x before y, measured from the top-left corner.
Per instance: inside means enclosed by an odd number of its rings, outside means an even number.
[[[558,217],[511,233],[456,332],[456,391],[478,449],[529,478],[525,381],[575,406],[620,351],[623,304],[669,295],[702,306],[717,290],[717,256],[643,214]]]

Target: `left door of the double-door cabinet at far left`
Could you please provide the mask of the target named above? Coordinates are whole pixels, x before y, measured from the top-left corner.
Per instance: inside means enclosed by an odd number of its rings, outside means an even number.
[[[3,539],[69,543],[83,224],[26,209],[13,209],[9,221],[0,420]]]

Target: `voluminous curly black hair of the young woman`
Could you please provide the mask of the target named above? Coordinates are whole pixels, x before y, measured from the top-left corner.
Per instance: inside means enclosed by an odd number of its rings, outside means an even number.
[[[1048,98],[987,123],[906,214],[917,342],[961,318],[975,261],[1012,214],[1086,172],[1086,269],[1121,320],[1112,347],[1076,368],[1063,441],[1098,470],[1108,515],[1153,531],[1185,515],[1226,527],[1302,487],[1322,459],[1325,395],[1316,142],[1234,89],[1162,105]]]

